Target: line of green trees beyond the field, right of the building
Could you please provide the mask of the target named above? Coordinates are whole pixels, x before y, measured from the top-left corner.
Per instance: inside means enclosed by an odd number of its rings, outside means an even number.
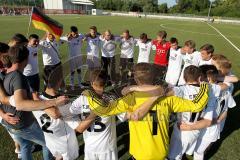
[[[168,7],[158,0],[93,0],[95,7],[103,10],[144,12],[144,13],[183,13],[207,15],[210,0],[176,0],[176,5]],[[211,16],[240,17],[240,0],[215,0]]]

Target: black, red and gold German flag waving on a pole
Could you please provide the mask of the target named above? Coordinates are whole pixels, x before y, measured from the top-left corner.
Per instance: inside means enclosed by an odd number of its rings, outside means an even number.
[[[36,29],[52,33],[57,40],[63,33],[63,25],[39,11],[36,7],[32,10],[32,23]]]

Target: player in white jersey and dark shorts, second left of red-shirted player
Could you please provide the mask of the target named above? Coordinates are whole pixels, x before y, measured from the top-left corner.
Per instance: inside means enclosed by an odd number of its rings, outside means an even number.
[[[130,35],[129,30],[124,30],[120,40],[120,75],[121,81],[126,82],[127,76],[131,75],[133,67],[134,47],[136,40]]]

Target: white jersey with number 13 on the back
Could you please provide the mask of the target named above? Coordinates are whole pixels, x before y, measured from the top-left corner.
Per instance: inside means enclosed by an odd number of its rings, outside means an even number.
[[[84,120],[90,114],[88,99],[81,95],[70,107],[70,112]],[[97,117],[95,122],[83,132],[85,152],[105,153],[117,148],[115,117]]]

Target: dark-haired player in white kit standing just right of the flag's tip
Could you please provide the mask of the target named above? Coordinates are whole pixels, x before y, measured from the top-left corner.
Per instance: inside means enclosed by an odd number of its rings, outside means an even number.
[[[81,66],[82,63],[82,55],[81,55],[81,49],[82,49],[82,41],[84,39],[83,34],[78,33],[78,28],[76,26],[70,27],[70,33],[67,35],[67,37],[61,37],[62,41],[66,41],[68,43],[68,49],[69,49],[69,65],[70,65],[70,86],[71,89],[74,90],[74,74],[75,70],[77,70],[77,78],[78,78],[78,86],[80,88],[83,87],[81,84]]]

